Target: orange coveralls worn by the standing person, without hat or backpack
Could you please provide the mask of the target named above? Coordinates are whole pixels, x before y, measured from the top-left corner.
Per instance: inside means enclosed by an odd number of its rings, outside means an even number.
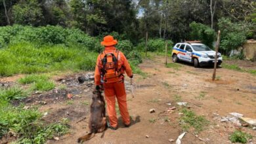
[[[114,46],[106,46],[104,52],[107,54],[109,52],[113,52],[116,50]],[[121,62],[121,73],[126,72],[129,77],[133,75],[129,62],[125,58],[125,55],[119,51],[118,63]],[[100,85],[100,69],[98,65],[100,65],[101,59],[100,55],[96,61],[95,67],[95,85]],[[118,64],[119,65],[119,64]],[[129,113],[127,109],[127,101],[126,101],[126,92],[125,92],[125,84],[123,82],[123,76],[119,77],[116,82],[104,82],[104,94],[107,103],[107,113],[110,119],[110,125],[114,128],[117,127],[117,117],[116,117],[116,98],[119,106],[119,111],[121,114],[121,118],[123,119],[124,124],[130,124]]]

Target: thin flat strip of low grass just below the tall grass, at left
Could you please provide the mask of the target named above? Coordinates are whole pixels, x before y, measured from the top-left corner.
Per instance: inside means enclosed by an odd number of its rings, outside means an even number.
[[[49,79],[47,76],[45,75],[27,75],[24,78],[20,78],[18,79],[18,82],[20,84],[31,84],[33,82],[38,82],[38,81],[47,81],[47,79]]]

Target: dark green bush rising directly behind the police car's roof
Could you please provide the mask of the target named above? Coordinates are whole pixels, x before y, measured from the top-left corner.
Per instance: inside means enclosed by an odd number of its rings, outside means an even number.
[[[191,40],[200,40],[203,44],[213,48],[213,41],[215,41],[216,33],[211,27],[196,22],[192,22],[189,27],[191,29]]]

